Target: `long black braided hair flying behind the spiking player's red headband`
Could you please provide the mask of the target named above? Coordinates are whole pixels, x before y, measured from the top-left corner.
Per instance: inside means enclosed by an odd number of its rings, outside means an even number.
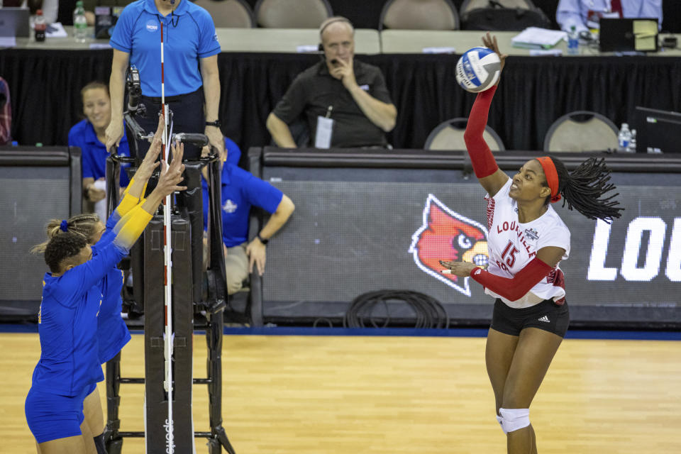
[[[589,219],[602,219],[607,223],[621,216],[620,211],[624,208],[614,200],[619,192],[602,197],[616,189],[614,184],[609,183],[610,170],[604,158],[590,157],[572,172],[567,172],[565,164],[558,158],[551,157],[551,160],[558,174],[558,193],[563,195],[563,206],[567,204],[567,209],[574,208]],[[546,182],[544,184],[548,186]],[[550,199],[551,196],[546,197],[546,204]]]

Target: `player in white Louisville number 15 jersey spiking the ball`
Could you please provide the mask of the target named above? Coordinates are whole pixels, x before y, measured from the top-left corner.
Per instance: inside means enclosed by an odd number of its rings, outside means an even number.
[[[497,38],[487,33],[482,43],[499,54],[503,69],[506,55]],[[496,89],[477,95],[464,136],[475,175],[487,190],[489,267],[441,264],[497,299],[485,350],[487,375],[509,454],[527,454],[537,452],[529,406],[570,323],[558,267],[570,255],[570,231],[550,203],[564,197],[568,209],[606,222],[619,218],[621,208],[613,200],[617,194],[602,197],[614,189],[603,160],[591,158],[567,172],[560,160],[538,157],[509,179],[482,138]]]

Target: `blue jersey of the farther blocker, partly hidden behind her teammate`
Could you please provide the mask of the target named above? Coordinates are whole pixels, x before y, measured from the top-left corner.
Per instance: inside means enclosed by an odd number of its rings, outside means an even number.
[[[118,216],[111,215],[106,222],[106,232],[101,236],[96,245],[92,246],[92,256],[99,255],[99,251],[106,247],[116,238],[112,231]],[[99,344],[99,362],[104,364],[118,355],[118,352],[131,339],[130,331],[126,322],[121,318],[121,289],[123,288],[123,271],[118,270],[116,265],[111,267],[101,280],[102,299],[97,317],[97,343]]]

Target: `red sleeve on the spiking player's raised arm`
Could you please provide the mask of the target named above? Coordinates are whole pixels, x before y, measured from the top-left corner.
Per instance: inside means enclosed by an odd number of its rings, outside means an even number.
[[[485,125],[487,125],[487,114],[489,114],[489,105],[492,104],[492,97],[497,87],[494,86],[485,92],[480,92],[475,98],[472,109],[470,109],[470,116],[468,116],[468,124],[466,132],[463,134],[463,139],[466,142],[468,155],[473,165],[473,171],[478,178],[485,178],[497,172],[499,166],[494,160],[492,151],[489,150],[485,139],[482,138],[482,133],[485,132]]]

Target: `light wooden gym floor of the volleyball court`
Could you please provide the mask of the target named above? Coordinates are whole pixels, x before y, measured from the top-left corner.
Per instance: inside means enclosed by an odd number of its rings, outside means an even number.
[[[195,377],[205,345],[194,336]],[[237,454],[505,453],[484,349],[484,338],[225,336],[223,426]],[[39,356],[38,334],[0,333],[0,453],[35,453],[23,403]],[[141,335],[122,356],[124,377],[143,376]],[[121,385],[123,430],[142,430],[142,402],[143,385]],[[197,431],[207,406],[195,385]],[[680,406],[680,341],[567,339],[531,421],[542,454],[681,453]]]

